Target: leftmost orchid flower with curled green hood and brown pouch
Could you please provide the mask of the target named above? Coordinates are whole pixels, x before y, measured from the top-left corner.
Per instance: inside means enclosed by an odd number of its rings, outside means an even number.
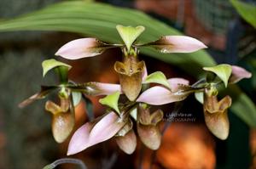
[[[44,99],[49,93],[59,90],[58,97],[61,105],[55,104],[52,101],[45,103],[45,110],[49,111],[52,115],[52,132],[57,143],[62,143],[73,131],[75,114],[74,106],[79,104],[81,93],[86,95],[102,95],[110,94],[115,90],[119,90],[119,86],[101,82],[89,82],[82,85],[76,85],[68,82],[67,71],[71,69],[70,65],[56,61],[55,59],[45,60],[42,64],[43,76],[49,70],[55,70],[60,77],[60,85],[42,86],[39,93],[35,93],[29,99],[24,100],[19,104],[20,108],[38,99]]]

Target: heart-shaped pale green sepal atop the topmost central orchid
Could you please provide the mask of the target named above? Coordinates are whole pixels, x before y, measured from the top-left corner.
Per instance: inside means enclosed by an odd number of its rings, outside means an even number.
[[[137,37],[139,37],[143,33],[145,27],[143,27],[142,25],[139,25],[137,27],[117,25],[116,29],[119,31],[119,35],[125,42],[125,46],[129,52],[132,43],[135,42]]]

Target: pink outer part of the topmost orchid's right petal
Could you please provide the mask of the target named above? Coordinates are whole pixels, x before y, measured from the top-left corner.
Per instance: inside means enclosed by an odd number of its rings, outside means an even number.
[[[192,53],[207,46],[193,37],[186,36],[166,36],[163,43],[171,45],[170,48],[162,48],[163,53]]]

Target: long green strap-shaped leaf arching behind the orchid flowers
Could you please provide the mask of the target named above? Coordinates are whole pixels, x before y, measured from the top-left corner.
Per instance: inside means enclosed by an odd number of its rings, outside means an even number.
[[[164,35],[181,34],[137,10],[86,1],[56,3],[14,20],[3,20],[0,22],[0,31],[70,31],[116,43],[121,41],[115,30],[116,25],[145,26],[146,31],[139,38],[141,42],[151,42]],[[203,50],[192,54],[159,54],[154,49],[145,48],[142,53],[177,65],[197,77],[202,73],[201,67],[215,65],[214,60]],[[234,106],[231,107],[233,112],[250,126],[256,127],[256,109],[253,102],[239,88],[232,93],[237,96]]]

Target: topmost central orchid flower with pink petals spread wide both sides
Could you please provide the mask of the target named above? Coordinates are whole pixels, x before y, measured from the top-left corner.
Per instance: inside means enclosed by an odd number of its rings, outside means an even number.
[[[202,42],[192,37],[165,36],[154,42],[137,43],[137,38],[143,33],[143,26],[131,27],[117,25],[123,44],[108,44],[96,38],[81,38],[67,42],[55,55],[65,59],[81,59],[102,54],[108,48],[121,48],[123,61],[117,61],[114,70],[119,73],[119,82],[126,97],[134,101],[142,89],[143,61],[137,59],[138,48],[151,47],[160,53],[191,53],[201,48],[207,48]]]

